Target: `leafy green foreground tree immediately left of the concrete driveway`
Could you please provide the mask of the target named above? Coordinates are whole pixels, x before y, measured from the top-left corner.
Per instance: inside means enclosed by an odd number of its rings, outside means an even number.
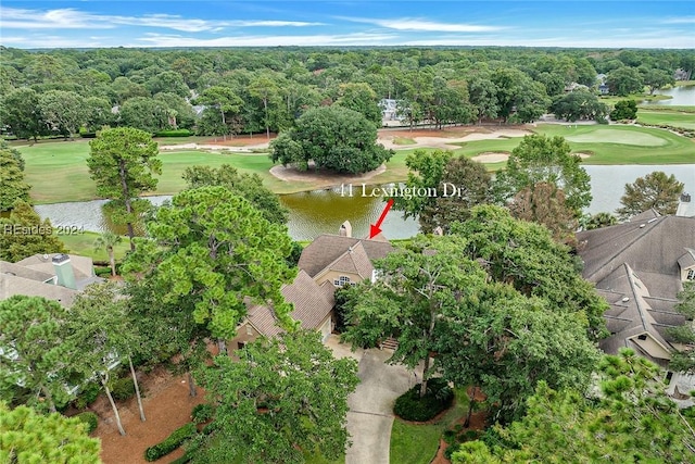
[[[257,340],[203,373],[217,405],[215,431],[194,462],[302,463],[302,452],[337,460],[349,443],[348,396],[357,363],[337,360],[315,331]]]

